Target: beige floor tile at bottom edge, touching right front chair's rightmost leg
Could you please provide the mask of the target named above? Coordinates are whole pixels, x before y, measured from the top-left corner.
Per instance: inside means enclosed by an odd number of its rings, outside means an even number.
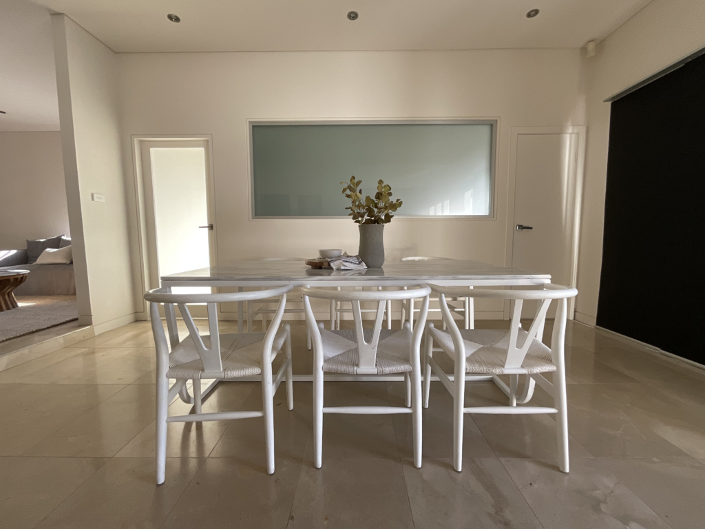
[[[553,461],[501,461],[544,529],[668,529],[599,461],[575,459],[568,474],[560,472]]]

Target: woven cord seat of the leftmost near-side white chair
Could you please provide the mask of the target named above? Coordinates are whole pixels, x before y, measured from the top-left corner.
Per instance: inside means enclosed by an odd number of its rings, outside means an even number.
[[[206,347],[210,347],[209,335],[202,336],[202,340]],[[262,373],[262,340],[264,340],[264,332],[221,334],[223,378],[249,377]],[[274,338],[271,348],[273,355],[281,351],[284,341],[286,341],[286,331],[282,328]],[[204,377],[203,373],[200,355],[193,340],[188,336],[169,353],[169,370],[166,376],[175,379],[212,377],[212,374]]]

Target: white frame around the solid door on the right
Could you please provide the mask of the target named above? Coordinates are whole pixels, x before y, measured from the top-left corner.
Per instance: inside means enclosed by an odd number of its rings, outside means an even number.
[[[556,127],[512,127],[511,142],[509,151],[509,179],[507,186],[507,230],[505,238],[505,266],[511,267],[513,260],[513,243],[514,243],[514,193],[517,176],[517,143],[520,135],[546,135],[546,134],[573,134],[576,136],[575,144],[575,164],[574,170],[570,171],[568,176],[568,219],[570,219],[570,253],[569,262],[569,277],[568,286],[575,287],[577,284],[577,261],[578,252],[580,249],[580,219],[582,213],[582,193],[583,179],[585,172],[585,142],[587,138],[586,126],[556,126]],[[537,271],[537,272],[540,272]],[[575,298],[568,300],[568,319],[572,320],[575,315]],[[509,303],[505,303],[504,319],[510,318]]]

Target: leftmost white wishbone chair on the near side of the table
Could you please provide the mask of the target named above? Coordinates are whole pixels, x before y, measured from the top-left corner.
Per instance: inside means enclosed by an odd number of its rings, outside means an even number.
[[[273,398],[282,379],[286,377],[286,400],[293,410],[293,378],[291,370],[291,339],[288,324],[281,328],[286,305],[286,293],[291,286],[279,286],[264,291],[221,294],[171,294],[166,288],[157,288],[145,293],[149,301],[152,332],[157,346],[157,485],[164,482],[166,465],[166,425],[168,422],[202,422],[209,420],[246,419],[264,417],[267,473],[274,473],[274,403]],[[279,307],[266,333],[219,334],[216,305],[279,298]],[[166,321],[170,328],[171,353],[164,334],[164,325],[159,318],[159,304],[164,304]],[[187,304],[206,303],[208,309],[209,334],[201,335],[191,317]],[[174,305],[178,305],[189,336],[178,341]],[[174,329],[176,330],[176,329]],[[284,353],[281,368],[272,377],[271,363],[279,353]],[[202,413],[202,398],[220,380],[261,375],[263,411],[219,411]],[[169,387],[169,379],[176,383]],[[201,391],[202,379],[216,379],[206,391]],[[188,380],[193,381],[195,413],[168,416],[168,406],[176,394],[185,390]]]

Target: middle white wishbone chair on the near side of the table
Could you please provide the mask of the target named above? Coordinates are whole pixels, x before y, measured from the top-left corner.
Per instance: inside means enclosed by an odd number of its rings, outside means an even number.
[[[424,334],[429,294],[427,286],[399,291],[337,291],[321,288],[302,288],[306,322],[311,330],[314,350],[313,406],[314,406],[314,464],[321,468],[323,454],[323,414],[386,414],[412,413],[414,430],[414,464],[421,466],[421,338]],[[353,304],[355,329],[326,331],[316,324],[309,298],[348,301]],[[391,300],[422,299],[417,325],[411,329],[391,331],[382,329],[386,303]],[[361,301],[376,301],[376,317],[372,329],[363,329]],[[344,375],[389,375],[403,373],[406,382],[406,406],[338,406],[324,407],[324,372]],[[413,391],[412,391],[413,387]],[[409,406],[411,408],[409,408]]]

